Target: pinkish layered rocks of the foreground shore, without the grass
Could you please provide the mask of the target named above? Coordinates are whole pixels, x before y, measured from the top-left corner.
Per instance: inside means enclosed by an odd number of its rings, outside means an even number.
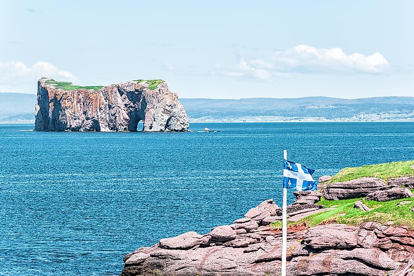
[[[329,178],[320,179],[326,180]],[[317,204],[322,196],[390,201],[412,198],[407,187],[413,186],[414,177],[390,179],[388,184],[376,178],[321,184],[319,191],[294,192],[296,200],[287,207],[288,221],[332,210],[334,207]],[[356,202],[355,208],[364,211],[366,206],[361,204]],[[282,233],[270,224],[281,220],[281,213],[269,199],[243,218],[207,234],[187,232],[161,239],[127,254],[122,275],[278,276]],[[392,221],[360,225],[333,221],[313,227],[293,224],[288,228],[287,248],[289,276],[414,276],[414,230],[393,226]]]

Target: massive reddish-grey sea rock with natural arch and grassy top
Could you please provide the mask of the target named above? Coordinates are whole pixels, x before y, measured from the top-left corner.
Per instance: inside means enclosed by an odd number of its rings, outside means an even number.
[[[42,78],[38,82],[37,131],[188,131],[178,95],[166,82],[129,81],[78,87]]]

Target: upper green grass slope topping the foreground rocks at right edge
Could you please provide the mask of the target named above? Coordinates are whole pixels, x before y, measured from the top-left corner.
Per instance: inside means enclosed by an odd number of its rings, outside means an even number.
[[[393,177],[410,176],[414,175],[414,170],[410,168],[413,164],[414,160],[410,160],[344,168],[334,175],[329,183],[344,182],[361,177],[377,177],[387,181],[387,179]]]

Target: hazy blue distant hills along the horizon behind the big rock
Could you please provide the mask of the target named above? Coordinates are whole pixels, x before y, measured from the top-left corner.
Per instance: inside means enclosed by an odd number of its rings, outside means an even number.
[[[190,121],[413,120],[414,97],[180,98]],[[34,122],[35,94],[0,93],[0,122]]]

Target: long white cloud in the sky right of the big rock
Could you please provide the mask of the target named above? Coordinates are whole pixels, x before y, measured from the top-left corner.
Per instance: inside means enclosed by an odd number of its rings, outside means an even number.
[[[278,51],[268,60],[242,59],[238,65],[216,65],[215,69],[228,76],[269,80],[291,77],[293,73],[378,74],[386,72],[389,63],[378,52],[365,56],[360,53],[346,54],[341,48],[299,45]]]

